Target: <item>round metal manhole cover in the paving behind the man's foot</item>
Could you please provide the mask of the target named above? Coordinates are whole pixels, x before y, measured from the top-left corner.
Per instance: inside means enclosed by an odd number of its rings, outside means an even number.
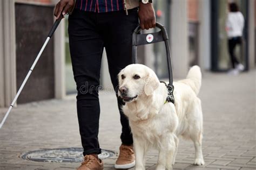
[[[102,150],[99,154],[100,159],[112,157],[115,153]],[[29,159],[37,162],[82,162],[83,148],[56,148],[39,151],[31,151],[22,155],[23,159]]]

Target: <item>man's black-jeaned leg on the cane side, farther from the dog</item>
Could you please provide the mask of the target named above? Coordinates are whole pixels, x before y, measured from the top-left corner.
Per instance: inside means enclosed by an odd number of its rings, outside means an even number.
[[[69,16],[69,44],[77,84],[77,115],[84,155],[99,154],[99,76],[103,40],[96,13],[74,10]]]

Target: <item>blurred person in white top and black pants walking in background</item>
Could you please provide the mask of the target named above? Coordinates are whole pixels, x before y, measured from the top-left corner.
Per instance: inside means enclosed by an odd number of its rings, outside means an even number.
[[[234,54],[235,46],[242,45],[242,31],[244,30],[245,20],[236,3],[230,3],[229,10],[230,12],[228,12],[226,20],[226,31],[232,69],[228,73],[236,75],[245,69]]]

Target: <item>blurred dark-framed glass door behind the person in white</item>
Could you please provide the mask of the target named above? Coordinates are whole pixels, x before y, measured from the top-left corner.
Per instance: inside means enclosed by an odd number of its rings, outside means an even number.
[[[225,30],[225,23],[228,13],[228,0],[211,1],[211,69],[213,71],[226,71],[231,68],[230,56],[228,54],[228,38]],[[247,37],[247,18],[248,18],[248,0],[235,0],[239,6],[240,12],[245,18],[244,33],[242,36],[242,45],[235,48],[235,56],[239,62],[248,70],[248,37]]]

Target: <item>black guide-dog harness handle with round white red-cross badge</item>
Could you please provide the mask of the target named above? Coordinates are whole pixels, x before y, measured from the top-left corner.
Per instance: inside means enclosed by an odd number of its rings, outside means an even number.
[[[172,62],[171,62],[171,52],[169,47],[168,41],[168,34],[163,25],[160,23],[156,23],[156,27],[160,29],[158,32],[154,33],[147,33],[147,34],[139,34],[142,29],[138,26],[132,34],[132,58],[133,63],[137,63],[137,46],[139,45],[146,45],[152,44],[156,42],[165,42],[165,49],[166,49],[166,57],[167,57],[167,66],[169,72],[169,84],[166,86],[169,91],[169,96],[167,97],[166,101],[174,103],[173,97],[173,77],[172,77]],[[150,38],[150,39],[149,39]]]

